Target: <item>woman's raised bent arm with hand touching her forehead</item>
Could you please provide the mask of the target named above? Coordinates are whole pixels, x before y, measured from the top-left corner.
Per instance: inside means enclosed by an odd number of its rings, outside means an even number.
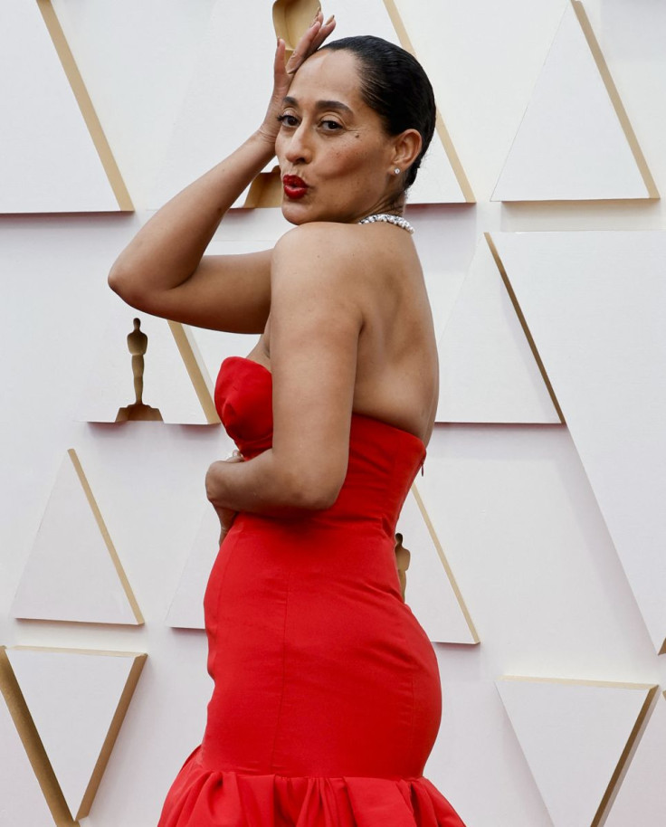
[[[335,23],[319,12],[285,65],[278,41],[262,126],[233,154],[178,193],[120,253],[109,286],[140,310],[202,328],[261,332],[271,306],[271,251],[204,256],[224,214],[275,154],[282,99],[300,62]]]

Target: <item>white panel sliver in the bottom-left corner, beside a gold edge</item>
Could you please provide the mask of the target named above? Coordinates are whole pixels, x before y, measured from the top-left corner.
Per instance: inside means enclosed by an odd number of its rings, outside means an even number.
[[[4,784],[0,802],[0,825],[14,827],[14,825],[26,824],[30,827],[53,827],[51,811],[2,695],[0,695],[0,744],[2,744],[0,778],[3,779]]]

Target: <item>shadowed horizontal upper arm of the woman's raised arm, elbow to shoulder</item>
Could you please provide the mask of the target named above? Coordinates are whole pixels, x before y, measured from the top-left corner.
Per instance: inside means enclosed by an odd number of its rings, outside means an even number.
[[[271,309],[272,250],[205,255],[182,284],[152,289],[146,279],[111,271],[109,285],[132,307],[198,328],[261,333]]]

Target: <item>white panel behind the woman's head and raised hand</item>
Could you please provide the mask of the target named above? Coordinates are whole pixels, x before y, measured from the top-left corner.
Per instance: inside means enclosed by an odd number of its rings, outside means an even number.
[[[289,8],[286,11],[289,13]],[[394,12],[395,19],[399,19]],[[363,32],[400,43],[384,0],[366,0],[362,4],[338,0],[335,13],[338,24],[331,39]],[[225,2],[215,5],[163,166],[157,175],[151,196],[153,205],[164,204],[230,155],[256,130],[271,96],[271,55],[274,51],[275,29],[270,5],[263,0],[246,0],[243,5]],[[237,87],[228,81],[240,65],[259,67],[258,71],[243,74],[243,106],[238,106]],[[211,100],[215,101],[213,107]],[[443,124],[438,126],[442,135],[445,134]],[[455,159],[452,146],[450,154]],[[455,164],[458,177],[442,141],[435,134],[428,157],[423,161],[423,171],[410,193],[410,202],[472,201],[473,195],[457,159]],[[277,160],[271,159],[266,171],[276,165]],[[464,193],[459,179],[463,182]],[[243,206],[247,195],[248,189],[233,206]],[[279,188],[278,200],[266,205],[279,206],[280,203]]]

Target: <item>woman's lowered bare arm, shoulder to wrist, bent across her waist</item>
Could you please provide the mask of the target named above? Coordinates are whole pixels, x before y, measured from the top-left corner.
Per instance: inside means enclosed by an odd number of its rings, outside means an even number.
[[[275,247],[273,445],[250,461],[213,463],[206,490],[216,509],[285,515],[338,497],[363,325],[348,233],[344,224],[309,223]]]

